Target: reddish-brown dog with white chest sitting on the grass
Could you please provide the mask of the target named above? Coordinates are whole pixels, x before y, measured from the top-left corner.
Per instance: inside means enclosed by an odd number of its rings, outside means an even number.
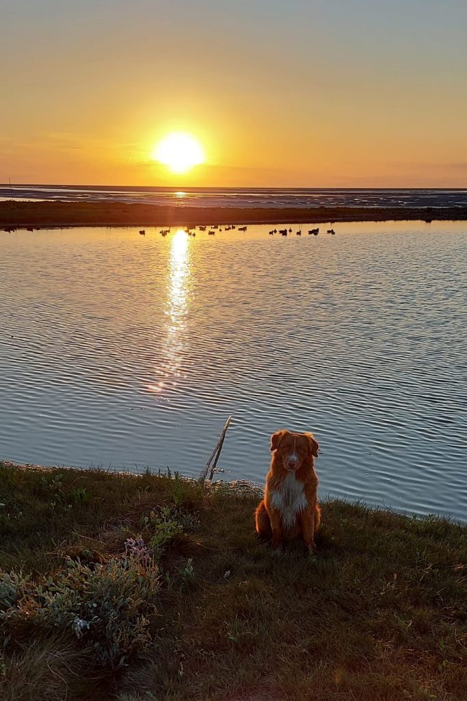
[[[258,536],[272,540],[277,550],[301,535],[309,553],[316,554],[314,536],[321,522],[314,471],[318,450],[312,433],[284,429],[271,436],[272,460],[255,521]]]

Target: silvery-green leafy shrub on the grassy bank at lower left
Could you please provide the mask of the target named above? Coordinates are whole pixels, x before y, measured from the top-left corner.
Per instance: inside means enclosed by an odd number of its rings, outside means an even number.
[[[159,571],[123,556],[90,566],[69,560],[67,569],[41,585],[0,573],[0,621],[9,631],[25,624],[72,632],[92,647],[100,664],[124,665],[149,641],[148,613],[155,611]]]

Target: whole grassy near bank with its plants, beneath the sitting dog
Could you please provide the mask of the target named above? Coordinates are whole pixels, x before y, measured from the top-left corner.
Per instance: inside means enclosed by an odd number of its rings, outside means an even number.
[[[323,504],[319,557],[251,491],[0,463],[0,697],[467,698],[467,528]]]

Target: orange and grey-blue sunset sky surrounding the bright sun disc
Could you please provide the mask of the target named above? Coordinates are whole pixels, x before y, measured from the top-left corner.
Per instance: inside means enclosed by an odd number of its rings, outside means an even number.
[[[0,0],[0,182],[466,187],[466,0]],[[151,159],[173,130],[207,161]]]

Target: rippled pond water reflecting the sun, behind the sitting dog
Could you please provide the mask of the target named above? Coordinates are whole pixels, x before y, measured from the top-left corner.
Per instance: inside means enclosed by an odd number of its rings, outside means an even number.
[[[467,224],[0,233],[0,456],[263,482],[313,430],[325,496],[467,520]],[[321,226],[321,231],[326,225]]]

